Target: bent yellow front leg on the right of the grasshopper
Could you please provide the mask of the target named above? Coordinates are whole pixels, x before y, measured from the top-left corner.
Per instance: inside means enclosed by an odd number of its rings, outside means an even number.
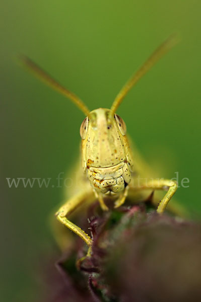
[[[137,187],[130,187],[133,190],[144,190],[144,189],[155,189],[155,190],[164,190],[167,191],[165,196],[160,201],[157,212],[162,214],[177,190],[177,182],[169,179],[152,179],[148,180],[146,183],[138,185]]]

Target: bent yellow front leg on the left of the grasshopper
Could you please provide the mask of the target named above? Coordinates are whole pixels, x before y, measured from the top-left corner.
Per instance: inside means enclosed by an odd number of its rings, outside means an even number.
[[[91,246],[92,239],[88,234],[86,234],[79,226],[75,223],[71,222],[66,216],[70,215],[77,207],[79,207],[87,198],[91,197],[93,192],[83,191],[76,196],[72,197],[68,201],[66,201],[59,210],[55,213],[56,218],[62,224],[66,226],[66,228],[73,231],[80,238],[82,238],[88,246]]]

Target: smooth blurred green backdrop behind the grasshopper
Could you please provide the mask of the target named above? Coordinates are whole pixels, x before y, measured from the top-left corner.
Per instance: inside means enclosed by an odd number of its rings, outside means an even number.
[[[84,118],[74,104],[15,64],[24,53],[89,106],[110,107],[133,71],[169,34],[182,37],[133,89],[118,113],[161,177],[189,178],[176,193],[201,216],[200,1],[1,3],[2,301],[38,301],[35,263],[50,253],[47,217],[62,189],[9,188],[6,178],[52,178],[78,160]],[[163,168],[161,168],[163,171]]]

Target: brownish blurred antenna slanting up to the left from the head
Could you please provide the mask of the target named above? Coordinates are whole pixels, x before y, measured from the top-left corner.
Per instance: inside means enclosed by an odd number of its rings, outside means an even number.
[[[18,58],[25,67],[27,67],[32,73],[36,75],[37,78],[39,78],[41,81],[43,81],[45,84],[47,84],[54,90],[64,95],[66,98],[70,99],[73,103],[77,105],[78,108],[81,109],[81,111],[85,115],[89,115],[90,113],[89,109],[77,95],[75,95],[73,92],[61,86],[57,81],[55,81],[51,77],[51,75],[49,75],[46,71],[40,68],[36,63],[34,63],[27,56],[19,55]]]

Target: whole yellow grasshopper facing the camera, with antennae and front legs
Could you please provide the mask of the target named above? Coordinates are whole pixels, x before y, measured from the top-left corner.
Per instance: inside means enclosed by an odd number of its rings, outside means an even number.
[[[126,125],[116,114],[116,110],[127,92],[174,46],[175,42],[175,36],[170,36],[154,51],[123,86],[110,109],[99,108],[93,111],[89,111],[78,96],[58,84],[28,57],[21,57],[24,65],[38,78],[73,101],[86,115],[80,127],[81,163],[77,170],[77,174],[81,176],[82,180],[77,184],[77,193],[59,208],[56,217],[67,228],[80,236],[89,247],[92,245],[92,238],[67,218],[87,200],[95,197],[102,210],[107,211],[106,200],[108,199],[113,201],[114,208],[117,208],[124,203],[127,196],[130,197],[138,191],[165,190],[167,193],[157,207],[157,212],[161,214],[177,190],[177,183],[173,180],[144,178],[144,181],[137,181],[137,175],[142,172],[141,175],[146,176],[147,171],[143,171],[143,165],[138,162],[141,161],[138,154],[133,156],[126,135]]]

